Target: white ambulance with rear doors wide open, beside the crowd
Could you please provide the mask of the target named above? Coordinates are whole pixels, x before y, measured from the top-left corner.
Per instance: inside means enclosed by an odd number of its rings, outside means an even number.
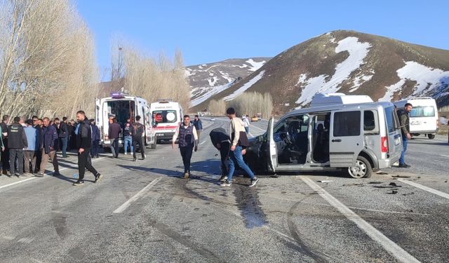
[[[145,126],[144,143],[152,149],[156,149],[156,135],[153,129],[152,114],[149,111],[147,100],[142,97],[130,96],[126,93],[112,93],[110,97],[95,99],[95,123],[100,128],[100,144],[109,147],[109,118],[115,117],[120,126],[125,125],[129,118],[131,121],[135,116],[140,116],[140,123]],[[123,139],[123,138],[122,138]],[[123,140],[120,143],[123,144]]]

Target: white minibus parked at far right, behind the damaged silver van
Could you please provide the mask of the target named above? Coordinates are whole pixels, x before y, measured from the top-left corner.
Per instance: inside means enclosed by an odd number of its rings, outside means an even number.
[[[410,112],[410,133],[415,136],[424,134],[434,139],[439,126],[436,101],[431,97],[413,97],[393,102],[397,109],[403,109],[406,103],[413,106]]]

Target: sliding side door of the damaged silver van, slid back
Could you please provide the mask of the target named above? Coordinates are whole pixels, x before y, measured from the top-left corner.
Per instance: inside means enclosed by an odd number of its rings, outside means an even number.
[[[330,116],[330,167],[351,167],[363,149],[361,110],[340,110]]]

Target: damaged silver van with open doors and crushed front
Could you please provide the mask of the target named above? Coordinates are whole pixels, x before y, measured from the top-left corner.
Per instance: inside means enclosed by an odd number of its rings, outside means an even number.
[[[256,171],[347,170],[354,178],[398,161],[401,130],[391,102],[367,95],[316,94],[250,140],[245,161]]]

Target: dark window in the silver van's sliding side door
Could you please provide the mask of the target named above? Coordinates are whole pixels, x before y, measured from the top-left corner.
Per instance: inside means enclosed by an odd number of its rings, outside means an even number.
[[[333,123],[333,136],[360,135],[361,112],[335,112]]]

